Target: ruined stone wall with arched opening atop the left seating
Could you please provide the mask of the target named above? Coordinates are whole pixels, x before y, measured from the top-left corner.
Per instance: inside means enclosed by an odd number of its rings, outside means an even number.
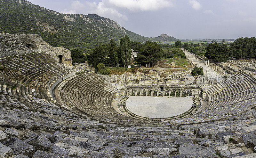
[[[71,51],[64,47],[52,47],[37,34],[6,34],[0,35],[0,53],[1,51],[19,51],[28,49],[39,49],[49,54],[53,59],[59,62],[58,55],[63,56],[63,64],[72,66]]]

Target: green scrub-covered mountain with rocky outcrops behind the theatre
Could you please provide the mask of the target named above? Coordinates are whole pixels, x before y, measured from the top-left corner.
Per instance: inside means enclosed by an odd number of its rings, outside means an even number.
[[[0,32],[39,34],[53,47],[78,48],[83,52],[107,44],[110,39],[118,41],[126,34],[132,41],[142,43],[162,41],[128,31],[109,18],[95,14],[61,14],[25,0],[0,0]]]

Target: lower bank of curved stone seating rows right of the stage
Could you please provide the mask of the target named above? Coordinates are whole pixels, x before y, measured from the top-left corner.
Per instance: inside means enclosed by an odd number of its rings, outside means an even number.
[[[214,84],[208,91],[207,107],[186,119],[174,120],[173,122],[196,123],[230,117],[241,113],[248,107],[253,106],[256,99],[256,82],[243,72],[237,72],[222,83]],[[242,79],[237,82],[237,79]]]

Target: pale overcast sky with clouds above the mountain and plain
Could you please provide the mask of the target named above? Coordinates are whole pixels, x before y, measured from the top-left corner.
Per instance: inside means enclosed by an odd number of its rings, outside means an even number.
[[[147,37],[236,39],[256,34],[255,0],[29,0],[67,14],[97,14]]]

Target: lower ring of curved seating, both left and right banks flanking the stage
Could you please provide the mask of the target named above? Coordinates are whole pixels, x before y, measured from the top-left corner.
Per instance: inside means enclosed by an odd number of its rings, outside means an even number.
[[[243,72],[238,72],[236,76],[243,77],[243,82],[236,83],[236,78],[229,78],[223,83],[215,84],[207,91],[209,105],[203,111],[188,118],[170,120],[170,123],[203,122],[228,117],[244,111],[255,102],[256,84],[252,77]],[[122,120],[124,124],[132,122],[140,124],[143,122],[116,112],[110,103],[110,98],[114,94],[103,90],[105,86],[104,80],[96,74],[80,75],[70,80],[63,87],[61,99],[68,106],[76,106],[100,120],[114,123]],[[145,123],[148,123],[148,121]]]

